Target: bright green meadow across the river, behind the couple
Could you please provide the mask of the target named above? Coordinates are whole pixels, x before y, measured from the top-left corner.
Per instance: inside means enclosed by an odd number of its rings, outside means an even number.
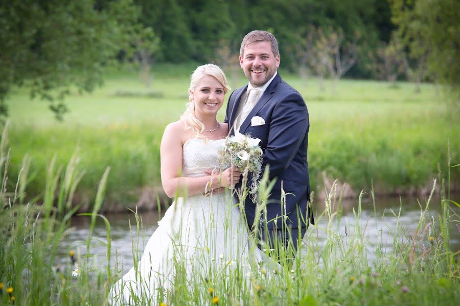
[[[48,104],[31,100],[27,88],[16,89],[10,107],[10,177],[17,177],[22,158],[31,158],[29,197],[44,190],[45,168],[54,155],[65,167],[77,150],[77,169],[84,171],[77,201],[90,205],[106,167],[110,166],[104,208],[133,207],[145,190],[160,190],[159,143],[167,123],[177,120],[187,103],[188,76],[195,65],[154,67],[150,89],[135,71],[108,75],[90,94],[66,99],[71,112],[57,122]],[[347,182],[358,193],[392,194],[431,186],[432,177],[447,171],[447,145],[452,164],[460,160],[457,108],[445,102],[432,84],[415,85],[342,80],[319,90],[315,79],[280,72],[304,96],[310,114],[308,162],[312,186],[324,189],[321,172]],[[245,84],[229,80],[232,88]],[[228,97],[228,94],[227,94]],[[223,120],[225,108],[220,110]],[[65,169],[65,168],[64,168]],[[458,168],[456,168],[458,169]],[[453,180],[459,171],[454,169]],[[12,181],[12,180],[10,180]],[[14,189],[14,184],[8,186]]]

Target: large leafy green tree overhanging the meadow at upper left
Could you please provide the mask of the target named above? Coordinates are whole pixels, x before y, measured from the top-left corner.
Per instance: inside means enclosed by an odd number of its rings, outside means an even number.
[[[62,118],[71,87],[91,91],[133,39],[131,0],[30,0],[0,4],[0,113],[14,86],[50,102]]]

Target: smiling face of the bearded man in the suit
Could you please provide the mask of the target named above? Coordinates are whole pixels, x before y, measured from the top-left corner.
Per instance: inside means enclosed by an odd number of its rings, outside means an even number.
[[[280,55],[273,55],[269,41],[253,42],[244,47],[240,66],[253,87],[259,87],[273,77],[280,66]]]

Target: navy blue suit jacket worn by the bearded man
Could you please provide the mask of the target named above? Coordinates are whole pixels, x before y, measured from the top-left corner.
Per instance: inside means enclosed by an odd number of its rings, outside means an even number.
[[[225,122],[234,135],[233,124],[241,96],[247,85],[236,89],[228,98]],[[262,117],[265,124],[251,126],[251,118]],[[313,214],[308,208],[310,201],[310,179],[308,175],[307,145],[310,122],[305,101],[297,90],[284,82],[277,74],[260,97],[254,109],[249,113],[240,127],[241,134],[250,134],[260,138],[260,146],[264,152],[263,169],[269,166],[270,180],[277,178],[267,203],[268,228],[282,228],[285,210],[288,216],[286,223],[292,228],[305,227],[308,221],[313,224]],[[286,193],[286,208],[281,206],[281,184]],[[237,185],[237,188],[239,186]],[[251,228],[256,211],[255,203],[247,197],[245,214]],[[298,214],[302,214],[301,223]]]

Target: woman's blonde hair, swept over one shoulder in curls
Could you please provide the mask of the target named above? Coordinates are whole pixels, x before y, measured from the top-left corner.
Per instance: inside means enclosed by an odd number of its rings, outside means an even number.
[[[220,69],[218,66],[214,64],[206,64],[197,67],[195,71],[193,71],[190,77],[189,103],[187,103],[186,111],[182,114],[182,116],[180,116],[180,119],[186,125],[186,131],[191,130],[193,132],[194,138],[206,138],[202,135],[204,132],[204,124],[195,117],[195,103],[191,93],[191,90],[196,89],[198,83],[203,77],[205,77],[205,75],[211,75],[211,77],[216,78],[220,85],[222,85],[224,93],[231,90],[227,84],[225,73],[223,73],[222,69]]]

